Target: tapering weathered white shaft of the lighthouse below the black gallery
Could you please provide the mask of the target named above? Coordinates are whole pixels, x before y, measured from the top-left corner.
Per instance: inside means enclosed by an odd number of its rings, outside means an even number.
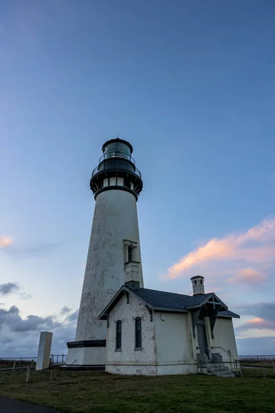
[[[104,191],[96,198],[76,341],[106,338],[106,321],[98,315],[124,284],[124,239],[137,242],[135,260],[143,286],[135,197],[127,191]]]

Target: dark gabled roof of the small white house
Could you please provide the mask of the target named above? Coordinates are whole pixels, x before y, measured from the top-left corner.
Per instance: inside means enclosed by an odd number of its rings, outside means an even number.
[[[166,291],[149,290],[148,288],[130,288],[129,286],[122,286],[118,293],[109,302],[106,308],[100,314],[100,319],[107,319],[107,315],[120,301],[123,295],[133,294],[144,301],[144,304],[153,308],[153,310],[171,311],[174,313],[188,313],[192,308],[199,308],[203,304],[217,305],[220,309],[218,317],[236,317],[239,315],[232,313],[228,307],[215,295],[214,293],[201,295],[183,295],[176,293],[168,293]]]

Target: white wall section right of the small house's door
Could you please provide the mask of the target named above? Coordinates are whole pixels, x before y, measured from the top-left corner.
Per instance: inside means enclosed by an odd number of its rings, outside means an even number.
[[[211,346],[223,347],[226,351],[230,350],[232,357],[238,359],[232,319],[217,318],[214,326],[214,339],[211,339]],[[212,351],[219,352],[223,356],[223,361],[230,361],[228,354],[221,350],[221,348],[214,348]]]

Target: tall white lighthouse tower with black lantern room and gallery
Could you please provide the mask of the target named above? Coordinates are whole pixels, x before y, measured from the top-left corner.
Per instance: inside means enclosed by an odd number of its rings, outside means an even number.
[[[126,140],[108,140],[102,151],[90,181],[96,206],[76,339],[67,343],[67,365],[98,369],[104,368],[107,334],[98,316],[125,282],[138,279],[143,287],[136,207],[142,176]]]

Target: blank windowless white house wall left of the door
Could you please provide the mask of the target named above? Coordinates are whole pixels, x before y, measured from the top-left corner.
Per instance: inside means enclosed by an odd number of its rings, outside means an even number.
[[[190,319],[184,313],[155,312],[155,347],[157,374],[190,374],[197,372]]]

